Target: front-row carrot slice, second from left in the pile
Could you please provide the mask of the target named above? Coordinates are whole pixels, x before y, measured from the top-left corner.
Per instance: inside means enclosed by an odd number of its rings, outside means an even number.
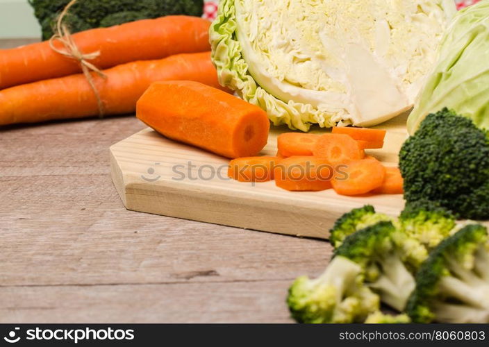
[[[274,172],[276,186],[290,191],[329,189],[333,176],[333,167],[327,160],[312,156],[285,158]]]

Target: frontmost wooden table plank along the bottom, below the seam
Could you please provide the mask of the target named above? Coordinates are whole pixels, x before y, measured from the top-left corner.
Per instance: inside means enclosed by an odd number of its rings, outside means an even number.
[[[0,323],[288,323],[288,281],[0,288]]]

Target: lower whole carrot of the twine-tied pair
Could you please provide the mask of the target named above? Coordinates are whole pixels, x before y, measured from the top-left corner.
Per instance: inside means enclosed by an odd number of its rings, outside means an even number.
[[[104,73],[106,79],[93,76],[106,115],[134,112],[136,101],[156,81],[181,79],[221,87],[208,52],[129,62]],[[83,74],[0,90],[0,126],[98,114],[97,99]]]

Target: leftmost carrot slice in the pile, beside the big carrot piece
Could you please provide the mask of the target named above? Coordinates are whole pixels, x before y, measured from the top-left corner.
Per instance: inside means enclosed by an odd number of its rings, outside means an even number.
[[[247,157],[231,160],[228,176],[240,182],[267,182],[274,179],[276,157]]]

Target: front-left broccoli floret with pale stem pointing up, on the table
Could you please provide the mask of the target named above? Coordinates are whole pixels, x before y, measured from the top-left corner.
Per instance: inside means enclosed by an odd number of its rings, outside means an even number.
[[[379,296],[362,285],[362,269],[345,257],[334,257],[314,280],[301,276],[289,289],[289,310],[299,323],[362,322],[379,310]]]

